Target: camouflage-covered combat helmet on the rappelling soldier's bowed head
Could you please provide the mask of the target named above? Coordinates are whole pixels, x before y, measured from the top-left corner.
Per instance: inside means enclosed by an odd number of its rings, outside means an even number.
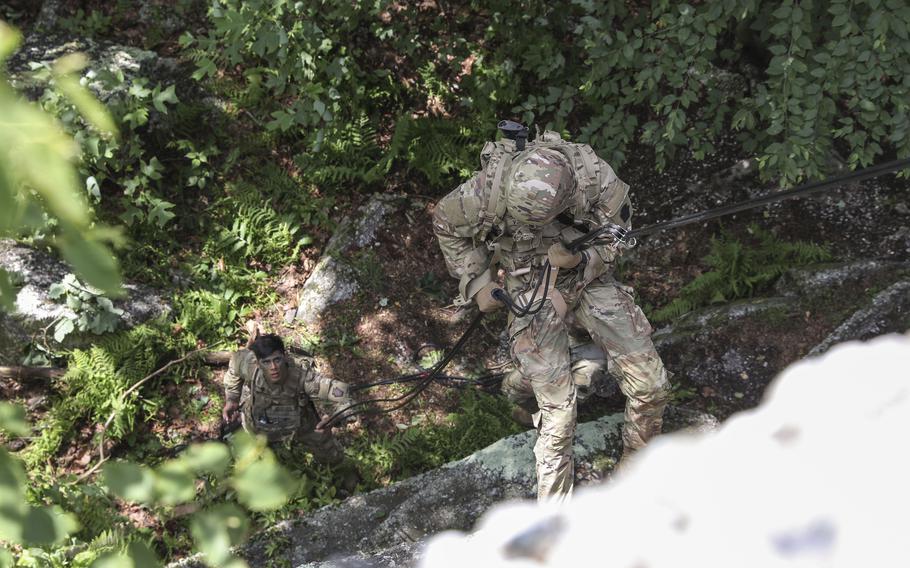
[[[523,225],[545,225],[574,203],[575,178],[568,159],[535,148],[512,164],[506,212]]]

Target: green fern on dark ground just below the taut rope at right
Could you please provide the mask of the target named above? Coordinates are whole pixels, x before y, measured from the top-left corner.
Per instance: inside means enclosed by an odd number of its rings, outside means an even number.
[[[752,244],[744,244],[726,233],[712,239],[711,251],[704,258],[711,270],[686,284],[678,298],[651,313],[651,320],[669,321],[700,306],[751,297],[767,290],[791,268],[831,258],[824,247],[782,241],[754,224],[749,233]]]

